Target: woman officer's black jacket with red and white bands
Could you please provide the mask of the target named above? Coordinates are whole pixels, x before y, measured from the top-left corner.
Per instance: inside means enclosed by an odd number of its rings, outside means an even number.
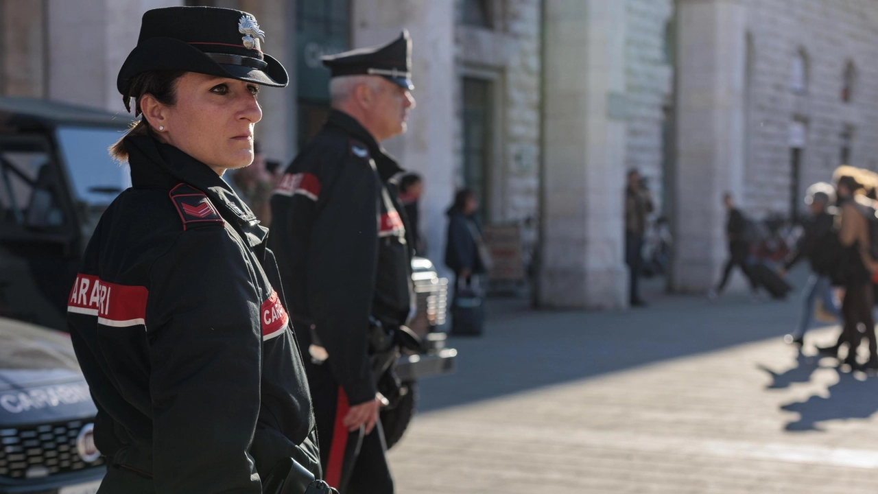
[[[133,187],[104,212],[68,301],[97,447],[163,494],[259,493],[254,474],[284,455],[320,476],[267,229],[205,164],[145,136],[126,147]]]

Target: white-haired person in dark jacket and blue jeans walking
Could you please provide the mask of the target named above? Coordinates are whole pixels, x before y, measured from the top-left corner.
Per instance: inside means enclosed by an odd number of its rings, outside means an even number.
[[[781,276],[792,269],[802,259],[808,259],[811,274],[802,290],[804,311],[799,318],[795,331],[784,340],[790,344],[802,346],[805,331],[808,331],[817,300],[823,302],[824,311],[840,320],[841,312],[832,293],[830,280],[831,252],[821,249],[826,236],[836,235],[833,229],[834,217],[829,212],[829,205],[835,201],[835,188],[825,182],[811,185],[805,194],[805,204],[810,207],[811,215],[804,224],[804,233],[798,248],[791,252],[787,262],[781,268]]]

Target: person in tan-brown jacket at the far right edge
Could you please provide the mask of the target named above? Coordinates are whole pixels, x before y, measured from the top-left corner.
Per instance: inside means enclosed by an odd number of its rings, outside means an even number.
[[[823,354],[838,355],[841,345],[847,344],[847,356],[842,364],[853,368],[878,369],[878,341],[875,338],[872,316],[872,279],[878,272],[874,255],[874,233],[878,233],[878,218],[872,200],[866,196],[878,186],[874,174],[850,166],[835,171],[838,195],[839,258],[833,281],[845,287],[841,303],[844,319],[841,335],[835,345],[819,348]],[[873,247],[874,246],[874,247]],[[862,325],[862,329],[860,329]],[[869,357],[864,366],[857,362],[857,349],[862,338],[868,339]]]

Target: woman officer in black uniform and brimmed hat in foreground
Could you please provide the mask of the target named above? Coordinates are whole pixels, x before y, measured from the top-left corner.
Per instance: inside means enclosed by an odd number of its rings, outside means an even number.
[[[221,178],[253,160],[259,85],[287,83],[263,40],[246,12],[156,9],[119,71],[143,115],[111,149],[133,187],[104,212],[68,303],[102,494],[259,493],[290,458],[320,476],[267,230]]]

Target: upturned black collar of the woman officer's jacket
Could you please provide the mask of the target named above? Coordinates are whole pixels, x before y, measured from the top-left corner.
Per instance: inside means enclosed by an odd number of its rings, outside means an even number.
[[[205,163],[146,135],[129,135],[125,146],[134,187],[172,188],[183,182],[205,193],[223,219],[233,222],[247,236],[251,247],[268,236],[269,230],[259,224],[247,204]]]

